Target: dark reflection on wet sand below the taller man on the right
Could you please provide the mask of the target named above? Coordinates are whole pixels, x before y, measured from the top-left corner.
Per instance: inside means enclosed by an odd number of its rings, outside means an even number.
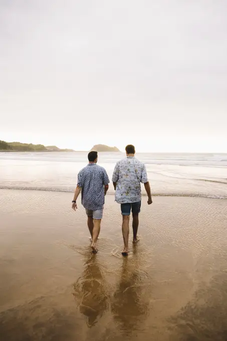
[[[134,246],[133,258],[123,258],[120,280],[112,298],[114,320],[125,335],[141,330],[149,313],[150,288],[144,283],[148,276],[141,269],[141,255]]]

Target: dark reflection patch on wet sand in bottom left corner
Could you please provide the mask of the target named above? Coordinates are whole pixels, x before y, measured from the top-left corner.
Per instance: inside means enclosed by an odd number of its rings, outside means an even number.
[[[80,319],[65,296],[38,297],[0,312],[0,340],[73,340],[80,330]]]

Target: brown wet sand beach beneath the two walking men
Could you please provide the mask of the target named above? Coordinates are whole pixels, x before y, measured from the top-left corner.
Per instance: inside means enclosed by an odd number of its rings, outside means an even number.
[[[1,340],[227,339],[226,200],[143,198],[127,258],[113,196],[97,255],[71,201],[0,190]]]

